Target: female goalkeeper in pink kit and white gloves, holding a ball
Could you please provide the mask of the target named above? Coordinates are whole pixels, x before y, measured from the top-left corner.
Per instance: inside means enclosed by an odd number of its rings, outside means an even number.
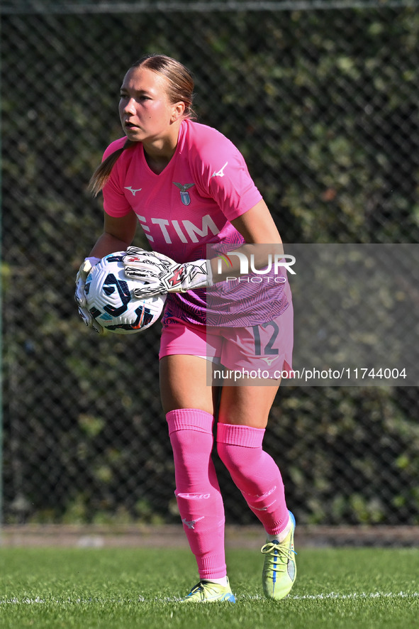
[[[281,239],[238,149],[193,120],[193,89],[189,71],[164,55],[141,58],[125,75],[119,102],[125,136],[108,146],[91,180],[95,194],[103,191],[104,232],[80,267],[76,300],[86,324],[100,332],[86,310],[84,282],[91,266],[114,251],[128,250],[125,273],[151,283],[143,290],[139,282],[138,296],[167,293],[160,390],[175,494],[200,579],[181,601],[235,602],[211,459],[214,434],[220,459],[267,535],[264,594],[281,599],[296,578],[295,520],[262,440],[280,374],[291,368],[291,295],[285,274],[259,270],[257,282],[244,274],[243,256],[259,260],[258,269],[264,258],[266,268],[264,244],[279,251]],[[152,251],[130,247],[138,222]],[[212,285],[221,288],[210,307]],[[220,395],[207,383],[208,361],[223,366]],[[233,381],[238,373],[240,385]]]

